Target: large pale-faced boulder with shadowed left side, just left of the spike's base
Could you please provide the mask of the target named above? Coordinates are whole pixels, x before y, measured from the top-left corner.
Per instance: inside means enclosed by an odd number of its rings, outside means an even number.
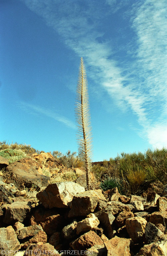
[[[77,195],[77,193],[84,191],[84,187],[75,182],[57,182],[50,184],[45,190],[40,191],[37,194],[37,198],[45,208],[67,208],[73,197]]]

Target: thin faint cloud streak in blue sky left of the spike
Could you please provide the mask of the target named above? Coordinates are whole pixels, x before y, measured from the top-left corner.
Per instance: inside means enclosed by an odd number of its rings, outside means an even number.
[[[47,108],[44,108],[44,107],[41,107],[41,106],[38,106],[38,105],[29,104],[29,103],[26,103],[24,101],[20,101],[18,103],[18,106],[21,109],[24,109],[24,111],[26,111],[28,113],[42,114],[46,117],[53,118],[54,120],[65,124],[69,128],[76,129],[75,123],[73,123],[72,121],[70,121],[68,118],[66,118],[64,116],[61,116],[61,115],[53,112],[50,109],[47,109]]]

